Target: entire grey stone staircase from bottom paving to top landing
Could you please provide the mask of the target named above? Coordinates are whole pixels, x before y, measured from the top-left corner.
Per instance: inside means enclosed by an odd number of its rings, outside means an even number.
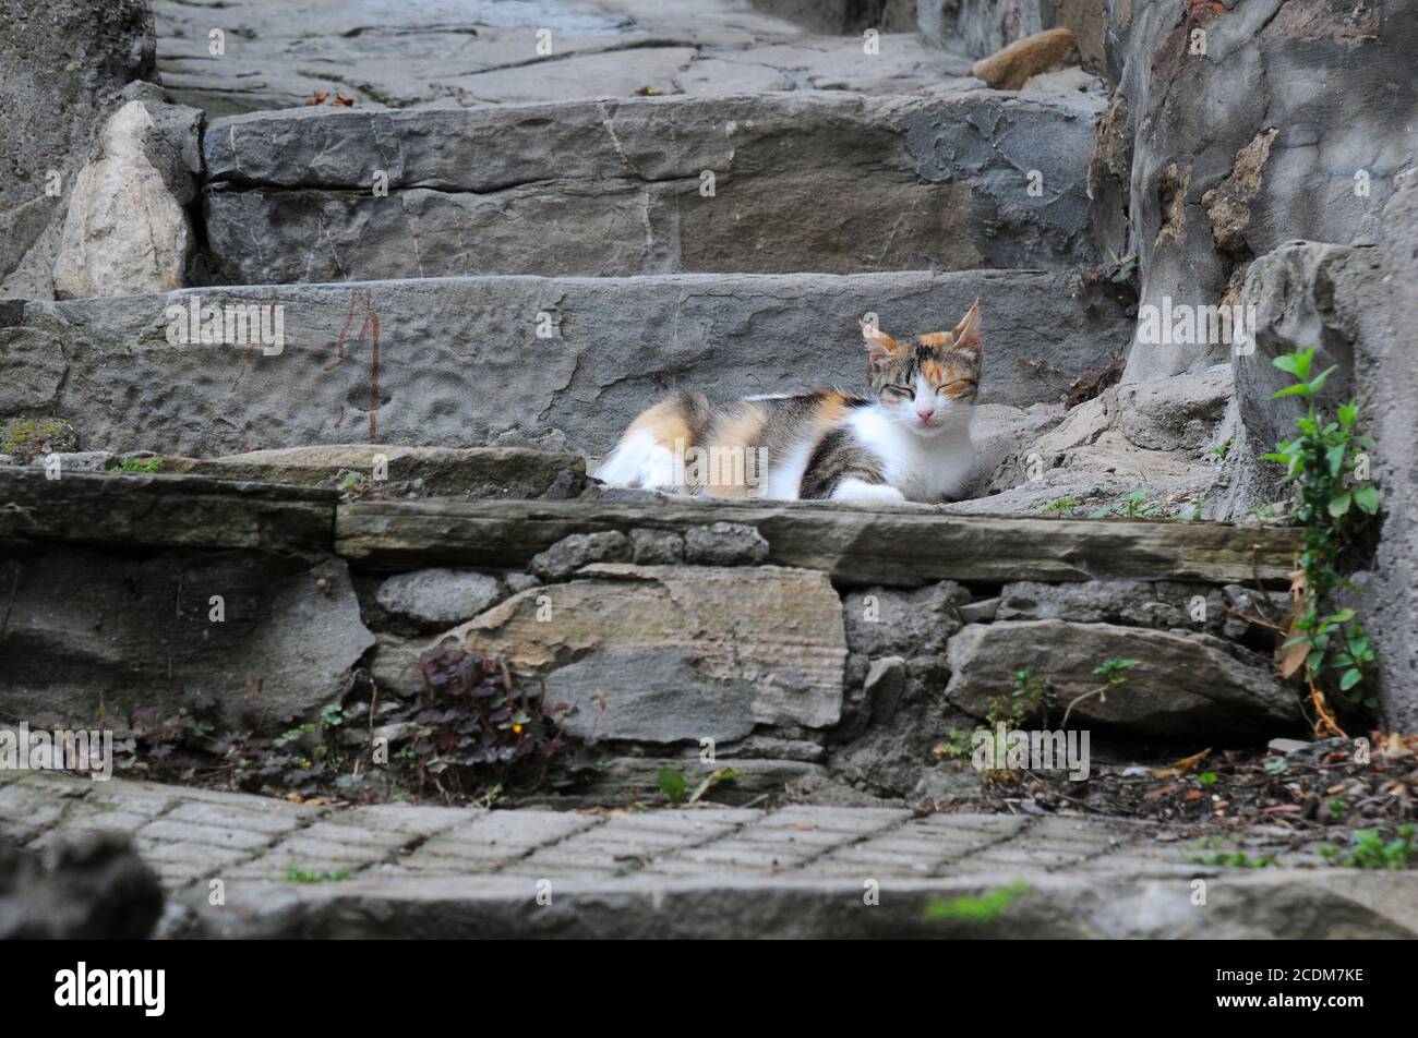
[[[1229,376],[1062,407],[1134,329],[1081,277],[1113,260],[1099,81],[991,91],[915,34],[864,55],[744,4],[638,0],[549,16],[567,47],[549,62],[506,61],[533,27],[496,4],[459,38],[377,4],[302,31],[248,1],[230,17],[251,45],[208,65],[196,6],[153,6],[169,91],[206,109],[199,248],[184,288],[0,301],[0,420],[64,440],[0,464],[0,718],[177,710],[200,691],[278,729],[353,688],[408,698],[452,640],[540,682],[600,760],[506,813],[23,780],[0,803],[41,821],[10,835],[43,848],[132,815],[180,895],[172,936],[715,936],[719,900],[781,936],[976,936],[932,930],[926,903],[1015,879],[1038,888],[1015,917],[1029,936],[1218,936],[1187,917],[1202,872],[1245,919],[1228,936],[1343,929],[1268,898],[1418,929],[1408,900],[1309,858],[1225,878],[1159,851],[1180,828],[903,807],[974,780],[932,749],[1020,669],[1079,699],[1103,756],[1306,730],[1256,621],[1285,607],[1296,532],[1039,516],[1134,485],[1200,506],[1232,465],[1207,457],[1235,430]],[[354,105],[305,106],[316,89]],[[666,390],[858,386],[864,315],[923,332],[976,298],[973,501],[726,503],[587,475]],[[1127,689],[1086,698],[1124,657]],[[726,764],[727,807],[569,811]],[[516,852],[485,854],[498,841]],[[288,859],[354,878],[302,888]],[[213,862],[250,885],[238,912],[203,909]],[[844,922],[878,874],[905,896]],[[525,889],[547,876],[576,906],[552,922]]]

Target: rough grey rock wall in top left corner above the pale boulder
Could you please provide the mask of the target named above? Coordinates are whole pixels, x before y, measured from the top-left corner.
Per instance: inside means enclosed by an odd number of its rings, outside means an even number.
[[[54,298],[75,173],[118,92],[152,74],[143,0],[0,3],[0,296]]]

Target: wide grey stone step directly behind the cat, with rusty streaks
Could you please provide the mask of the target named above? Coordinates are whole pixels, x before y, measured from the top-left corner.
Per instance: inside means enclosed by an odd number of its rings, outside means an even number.
[[[865,313],[888,332],[949,329],[977,296],[981,400],[1027,406],[1056,398],[1056,386],[1132,335],[1122,313],[1071,294],[1062,272],[915,271],[431,278],[7,301],[0,423],[61,418],[84,450],[190,457],[352,440],[520,442],[596,457],[674,387],[722,398],[862,386]],[[221,311],[221,340],[191,342],[206,322],[189,320],[193,308],[208,306]],[[235,325],[238,315],[250,326]],[[277,332],[278,345],[262,345]],[[1027,366],[1038,363],[1052,386]]]

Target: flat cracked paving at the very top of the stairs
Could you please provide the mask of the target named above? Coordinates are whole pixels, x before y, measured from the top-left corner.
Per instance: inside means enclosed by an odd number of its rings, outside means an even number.
[[[340,91],[360,108],[628,98],[637,91],[909,91],[966,75],[970,61],[917,37],[912,18],[883,28],[873,52],[849,37],[804,33],[742,0],[400,4],[343,0],[319,24],[271,0],[221,0],[230,33],[213,61],[210,13],[190,0],[152,0],[157,69],[183,104],[210,113],[305,105]],[[391,18],[397,21],[391,24]],[[835,33],[841,18],[814,18]],[[865,28],[865,26],[864,26]]]

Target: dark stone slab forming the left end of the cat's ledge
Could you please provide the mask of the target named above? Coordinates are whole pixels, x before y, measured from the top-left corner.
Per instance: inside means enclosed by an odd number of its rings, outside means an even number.
[[[0,540],[329,550],[333,491],[0,465]]]

